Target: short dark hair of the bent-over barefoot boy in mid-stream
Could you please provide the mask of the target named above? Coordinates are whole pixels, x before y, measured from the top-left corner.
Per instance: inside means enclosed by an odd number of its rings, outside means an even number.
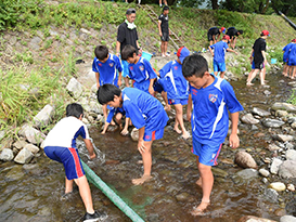
[[[114,95],[119,96],[121,94],[121,90],[115,87],[114,84],[103,84],[99,87],[96,91],[98,102],[102,105],[114,101]]]

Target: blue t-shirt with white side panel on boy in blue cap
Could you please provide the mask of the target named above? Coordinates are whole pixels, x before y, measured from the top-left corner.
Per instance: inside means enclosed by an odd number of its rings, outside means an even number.
[[[182,74],[182,64],[171,61],[159,70],[159,75],[168,99],[188,99],[189,83]]]

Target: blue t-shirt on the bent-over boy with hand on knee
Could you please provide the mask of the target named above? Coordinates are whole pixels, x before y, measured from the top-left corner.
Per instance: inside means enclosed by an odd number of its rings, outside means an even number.
[[[131,119],[137,129],[145,127],[145,132],[152,132],[167,125],[168,116],[164,106],[152,95],[134,88],[125,88],[123,101],[126,117]]]

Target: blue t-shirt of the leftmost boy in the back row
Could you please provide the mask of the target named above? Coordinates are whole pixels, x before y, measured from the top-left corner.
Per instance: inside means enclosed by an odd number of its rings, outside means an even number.
[[[119,58],[114,54],[108,54],[108,60],[105,63],[100,62],[96,57],[92,62],[92,70],[100,74],[100,84],[111,83],[117,86],[117,71],[123,71]],[[117,86],[118,87],[118,86]]]

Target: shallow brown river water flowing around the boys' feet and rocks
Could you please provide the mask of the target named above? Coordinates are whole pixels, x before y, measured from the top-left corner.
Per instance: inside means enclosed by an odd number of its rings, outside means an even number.
[[[274,102],[286,101],[291,95],[288,80],[281,74],[271,74],[267,79],[270,88],[259,86],[259,81],[248,88],[245,87],[245,80],[231,82],[245,108],[244,114],[253,107],[268,110]],[[202,190],[195,184],[198,171],[195,156],[191,154],[191,141],[180,140],[172,131],[172,125],[170,120],[164,139],[153,144],[153,180],[143,185],[131,184],[131,179],[142,173],[137,143],[129,136],[119,135],[118,131],[101,135],[98,128],[90,129],[94,144],[105,155],[104,164],[102,159],[88,162],[86,152],[81,152],[80,156],[145,221],[234,222],[246,214],[279,221],[276,212],[283,211],[293,194],[280,194],[280,201],[272,203],[265,195],[267,185],[261,182],[262,178],[237,180],[235,172],[242,169],[233,164],[236,151],[228,147],[227,143],[219,156],[218,167],[213,170],[215,184],[211,205],[205,216],[192,217],[189,212],[202,198]],[[189,122],[185,126],[190,129]],[[247,149],[258,165],[267,169],[262,158],[271,157],[265,148],[272,140],[271,132],[260,125],[254,131],[250,126],[241,125],[240,130],[240,148]],[[1,164],[0,173],[0,221],[81,220],[85,209],[78,191],[75,190],[67,199],[61,199],[64,170],[62,165],[50,160],[43,153],[30,165]],[[95,209],[108,216],[105,221],[130,221],[92,184],[91,190]]]

